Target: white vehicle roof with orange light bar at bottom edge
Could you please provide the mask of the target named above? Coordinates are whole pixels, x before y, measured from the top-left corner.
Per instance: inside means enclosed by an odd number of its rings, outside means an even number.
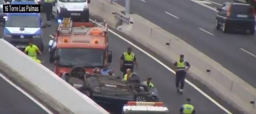
[[[122,114],[169,114],[169,110],[162,102],[129,101],[123,107]]]

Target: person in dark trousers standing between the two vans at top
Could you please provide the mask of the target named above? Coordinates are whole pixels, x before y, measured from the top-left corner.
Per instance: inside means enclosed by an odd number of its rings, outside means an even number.
[[[46,13],[47,23],[45,25],[43,25],[44,27],[51,26],[51,15],[52,15],[52,7],[53,7],[54,1],[55,0],[45,0],[44,9],[45,9],[45,13]]]

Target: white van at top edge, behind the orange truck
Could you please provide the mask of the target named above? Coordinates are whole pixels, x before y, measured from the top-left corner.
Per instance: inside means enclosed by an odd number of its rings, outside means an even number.
[[[52,8],[52,14],[57,20],[63,17],[71,17],[78,20],[89,22],[88,3],[91,0],[56,0]]]

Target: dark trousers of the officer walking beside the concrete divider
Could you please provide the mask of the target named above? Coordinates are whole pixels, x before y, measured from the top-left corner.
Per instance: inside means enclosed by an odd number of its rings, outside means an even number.
[[[176,81],[175,81],[176,87],[179,87],[181,84],[180,89],[184,88],[185,77],[186,77],[186,72],[184,70],[176,72]]]

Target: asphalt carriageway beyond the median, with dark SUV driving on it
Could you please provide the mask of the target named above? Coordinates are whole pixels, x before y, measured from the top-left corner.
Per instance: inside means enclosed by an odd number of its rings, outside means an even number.
[[[225,1],[227,0],[216,0],[219,4]],[[224,34],[216,30],[217,13],[190,0],[131,0],[131,2],[133,13],[183,39],[256,87],[256,35]],[[118,0],[118,3],[124,6],[125,0]]]

